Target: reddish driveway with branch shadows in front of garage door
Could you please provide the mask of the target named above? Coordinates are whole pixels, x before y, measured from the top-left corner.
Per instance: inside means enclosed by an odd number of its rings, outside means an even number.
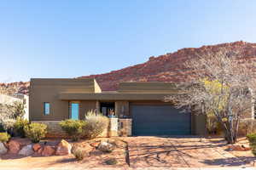
[[[130,167],[252,167],[250,151],[235,156],[225,151],[224,140],[200,138],[131,137],[128,143]]]

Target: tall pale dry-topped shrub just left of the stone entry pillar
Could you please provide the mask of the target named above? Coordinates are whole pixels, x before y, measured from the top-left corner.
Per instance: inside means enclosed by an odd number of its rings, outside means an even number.
[[[109,120],[107,116],[96,114],[95,111],[89,111],[84,117],[86,123],[83,127],[83,133],[86,139],[96,138],[108,127]]]

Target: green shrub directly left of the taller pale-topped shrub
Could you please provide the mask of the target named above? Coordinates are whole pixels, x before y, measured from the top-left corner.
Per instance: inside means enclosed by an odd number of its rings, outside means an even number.
[[[59,124],[61,129],[65,131],[73,141],[77,141],[81,138],[83,134],[83,127],[86,123],[80,120],[67,119],[65,121],[61,121]]]

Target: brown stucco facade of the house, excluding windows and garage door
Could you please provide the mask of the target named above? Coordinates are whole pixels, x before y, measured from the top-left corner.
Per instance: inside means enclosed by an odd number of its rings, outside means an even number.
[[[30,120],[49,122],[68,119],[71,101],[79,102],[79,119],[84,119],[87,111],[99,111],[100,102],[104,101],[114,102],[118,118],[131,118],[131,105],[172,105],[163,102],[164,97],[179,93],[175,84],[170,82],[122,82],[116,92],[102,92],[94,79],[32,79]],[[44,102],[50,104],[49,115],[44,115]],[[191,115],[192,134],[204,134],[205,125],[204,116]]]

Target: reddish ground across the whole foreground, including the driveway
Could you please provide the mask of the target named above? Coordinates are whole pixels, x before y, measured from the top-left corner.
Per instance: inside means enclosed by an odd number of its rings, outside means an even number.
[[[160,169],[246,167],[248,169],[253,167],[253,162],[256,161],[251,150],[233,150],[239,147],[230,147],[223,139],[216,138],[125,137],[78,142],[69,140],[63,142],[59,139],[44,140],[39,145],[31,144],[26,139],[14,141],[19,141],[20,150],[15,152],[9,150],[7,154],[2,155],[0,169],[154,169],[157,167]],[[246,148],[247,140],[241,139],[237,145]],[[77,161],[70,154],[69,151],[73,150],[70,146],[83,148],[86,156],[82,161]],[[52,149],[54,153],[51,156],[43,156],[42,153],[38,154],[38,151],[35,151],[40,148],[45,150],[45,147],[48,148],[45,152],[51,153]],[[29,154],[20,155],[20,152]]]

